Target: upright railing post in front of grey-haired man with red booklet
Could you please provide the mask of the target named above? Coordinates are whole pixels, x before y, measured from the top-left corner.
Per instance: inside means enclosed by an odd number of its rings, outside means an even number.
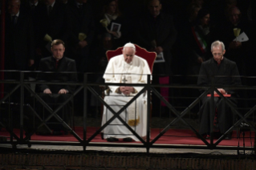
[[[214,119],[214,113],[215,113],[215,108],[214,108],[214,76],[211,77],[211,97],[210,97],[210,112],[209,112],[209,124],[210,124],[210,148],[213,149],[213,119]]]

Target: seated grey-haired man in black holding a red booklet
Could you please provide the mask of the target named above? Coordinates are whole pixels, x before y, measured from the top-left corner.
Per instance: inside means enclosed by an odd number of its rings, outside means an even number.
[[[199,86],[209,86],[211,84],[211,78],[214,77],[214,86],[221,94],[230,94],[230,101],[237,104],[236,93],[233,90],[220,88],[221,86],[234,87],[241,85],[241,79],[239,78],[237,64],[233,61],[226,59],[225,46],[223,42],[215,41],[212,43],[211,51],[213,58],[205,61],[201,64],[199,77],[197,84]],[[201,90],[203,92],[204,90]],[[214,91],[214,94],[217,94]],[[214,97],[215,113],[213,118],[213,131],[224,134],[233,125],[234,114],[231,112],[231,108],[227,105],[226,101],[221,97]],[[210,97],[205,96],[202,100],[202,106],[199,111],[200,129],[199,133],[209,138],[210,132]],[[226,136],[226,139],[230,139],[231,134]]]

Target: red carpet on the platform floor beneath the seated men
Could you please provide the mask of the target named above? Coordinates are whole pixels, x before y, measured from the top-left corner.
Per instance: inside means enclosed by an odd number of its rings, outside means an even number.
[[[92,136],[93,133],[99,127],[87,127],[87,138]],[[81,138],[83,137],[83,127],[75,127],[75,132]],[[19,130],[14,129],[14,133],[19,136]],[[151,140],[153,140],[158,134],[160,133],[160,129],[151,129]],[[10,136],[9,132],[3,131],[0,132],[0,136]],[[238,146],[236,131],[233,132],[233,136],[231,140],[222,140],[219,145],[222,146]],[[246,132],[245,136],[245,145],[247,147],[254,146],[254,132],[251,132],[251,139],[250,139],[250,132]],[[241,134],[242,138],[242,134]],[[31,136],[31,140],[49,140],[49,141],[78,141],[75,139],[74,136],[71,134],[63,135],[63,136],[38,136],[33,135]],[[209,140],[207,140],[209,142]],[[214,139],[214,143],[217,139]],[[95,136],[95,139],[91,140],[91,142],[107,142],[106,140],[101,140],[101,136]],[[120,141],[121,143],[123,141]],[[134,142],[140,143],[140,142]],[[156,144],[193,144],[193,145],[204,145],[204,143],[197,138],[197,136],[188,129],[170,129],[168,132],[165,133],[159,140],[156,141]],[[242,146],[243,141],[240,139],[240,146]]]

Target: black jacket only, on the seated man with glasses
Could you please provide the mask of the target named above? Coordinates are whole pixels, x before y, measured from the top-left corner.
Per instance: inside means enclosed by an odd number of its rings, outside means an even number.
[[[46,82],[76,82],[77,75],[75,73],[75,61],[73,59],[68,59],[63,57],[59,60],[58,67],[56,68],[56,60],[54,57],[50,56],[44,59],[41,59],[39,64],[39,71],[53,71],[54,73],[39,73],[37,76],[38,80],[43,80]],[[64,71],[64,73],[62,73]],[[74,73],[66,73],[74,72]],[[64,88],[69,93],[75,91],[75,86],[69,85],[55,85],[55,84],[40,84],[39,92],[43,92],[45,89],[49,88],[52,93],[57,94],[60,89]]]

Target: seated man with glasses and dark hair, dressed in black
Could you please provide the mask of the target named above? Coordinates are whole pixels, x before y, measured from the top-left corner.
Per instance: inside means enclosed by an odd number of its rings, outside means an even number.
[[[51,43],[51,51],[52,56],[41,59],[39,64],[39,71],[51,71],[51,73],[42,72],[37,76],[38,80],[46,81],[46,82],[63,82],[63,83],[71,83],[77,81],[76,75],[76,67],[75,60],[68,59],[63,56],[65,51],[65,44],[60,39],[55,39]],[[62,73],[64,71],[64,73]],[[74,73],[68,73],[74,72]],[[58,108],[63,102],[65,102],[68,98],[70,98],[71,94],[75,91],[75,86],[66,85],[66,84],[39,84],[38,90],[40,93],[40,97],[46,101],[46,103],[55,110]],[[42,107],[41,107],[42,108]],[[42,108],[43,109],[43,108]],[[41,111],[41,115],[42,113]],[[47,110],[44,109],[45,113]],[[47,118],[47,115],[44,115]],[[58,115],[67,123],[68,117],[71,115],[71,107],[70,103],[67,103],[63,109],[60,109]],[[51,120],[54,122],[59,122],[58,120]],[[51,128],[54,131],[59,132],[59,130],[63,130],[63,127],[58,125],[51,125]]]

